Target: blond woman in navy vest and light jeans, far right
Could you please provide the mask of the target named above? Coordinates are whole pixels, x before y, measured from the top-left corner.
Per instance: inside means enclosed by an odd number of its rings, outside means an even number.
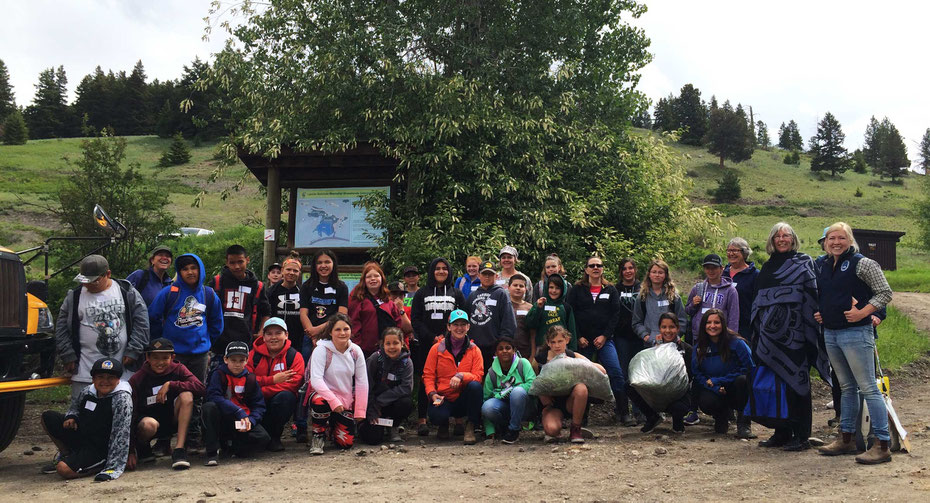
[[[856,461],[884,463],[891,461],[888,449],[891,436],[885,401],[875,383],[872,314],[891,301],[891,287],[878,263],[859,253],[849,225],[837,222],[827,228],[826,236],[827,258],[817,274],[820,311],[814,316],[823,324],[824,343],[843,390],[843,399],[840,436],[821,448],[820,453],[827,456],[856,454],[852,437],[856,432],[861,394],[869,408],[872,431],[878,442],[856,456]]]

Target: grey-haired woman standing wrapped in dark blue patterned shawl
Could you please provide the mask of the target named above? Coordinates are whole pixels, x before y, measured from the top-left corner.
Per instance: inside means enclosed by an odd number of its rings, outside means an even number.
[[[810,368],[830,375],[814,319],[819,310],[817,275],[813,260],[798,252],[798,236],[790,225],[775,224],[765,249],[770,257],[756,279],[752,304],[752,353],[787,385],[788,420],[759,445],[803,451],[810,448]]]

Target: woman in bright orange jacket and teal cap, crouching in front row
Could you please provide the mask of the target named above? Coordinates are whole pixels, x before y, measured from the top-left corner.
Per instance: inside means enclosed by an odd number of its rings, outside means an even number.
[[[465,311],[449,313],[449,332],[433,344],[423,366],[423,386],[429,398],[426,415],[439,426],[437,438],[449,438],[449,418],[465,417],[465,445],[478,441],[475,425],[481,420],[484,377],[481,350],[467,337],[469,326]]]

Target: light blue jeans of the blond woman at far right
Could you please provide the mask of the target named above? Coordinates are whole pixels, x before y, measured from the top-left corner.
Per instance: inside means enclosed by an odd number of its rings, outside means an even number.
[[[888,410],[878,391],[875,379],[875,337],[872,326],[849,327],[823,331],[827,355],[836,372],[843,400],[840,409],[840,431],[856,432],[859,396],[865,400],[872,419],[872,432],[879,440],[891,440],[888,433]],[[868,435],[868,432],[862,432]]]

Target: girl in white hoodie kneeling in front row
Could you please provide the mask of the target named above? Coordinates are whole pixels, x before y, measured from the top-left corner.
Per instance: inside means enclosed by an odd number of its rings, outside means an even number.
[[[351,448],[355,443],[356,422],[365,420],[368,373],[362,348],[351,338],[352,321],[345,314],[336,313],[327,320],[310,355],[310,386],[305,399],[313,419],[310,454],[323,454],[327,429],[331,429],[338,447]]]

